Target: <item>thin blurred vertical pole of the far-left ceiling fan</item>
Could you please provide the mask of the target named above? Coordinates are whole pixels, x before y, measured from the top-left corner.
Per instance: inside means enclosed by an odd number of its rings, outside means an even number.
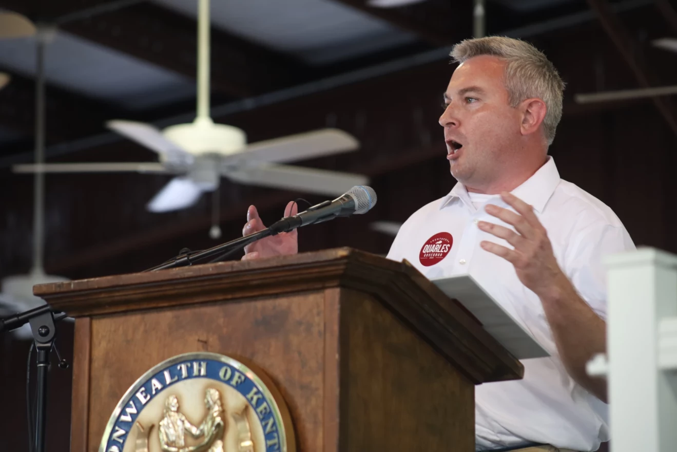
[[[36,39],[35,76],[35,163],[45,161],[45,33],[39,30]],[[32,272],[43,271],[45,209],[45,173],[38,171],[33,184],[33,268]]]

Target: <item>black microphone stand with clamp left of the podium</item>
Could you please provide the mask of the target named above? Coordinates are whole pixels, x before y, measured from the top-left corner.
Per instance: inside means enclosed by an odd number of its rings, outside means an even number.
[[[54,314],[58,314],[55,316]],[[35,348],[37,349],[37,412],[35,415],[35,452],[45,451],[45,428],[47,420],[47,371],[49,370],[49,353],[54,346],[56,337],[55,323],[64,319],[66,314],[52,310],[45,304],[37,308],[0,319],[0,333],[12,331],[30,323]],[[59,367],[68,367],[68,363],[61,361]]]

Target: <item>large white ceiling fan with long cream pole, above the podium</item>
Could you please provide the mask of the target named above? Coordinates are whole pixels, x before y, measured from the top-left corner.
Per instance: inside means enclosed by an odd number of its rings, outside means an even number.
[[[366,176],[359,174],[282,165],[359,148],[359,142],[345,131],[320,129],[247,144],[242,129],[214,123],[209,116],[209,31],[209,0],[199,0],[198,99],[197,116],[192,123],[172,125],[161,131],[133,121],[115,120],[106,124],[156,152],[159,162],[15,165],[14,171],[176,174],[148,203],[147,209],[153,212],[190,207],[204,192],[215,192],[217,199],[215,190],[221,176],[240,184],[326,195],[343,194],[352,186],[368,183]],[[215,201],[215,209],[217,204]],[[213,238],[220,235],[215,226]]]

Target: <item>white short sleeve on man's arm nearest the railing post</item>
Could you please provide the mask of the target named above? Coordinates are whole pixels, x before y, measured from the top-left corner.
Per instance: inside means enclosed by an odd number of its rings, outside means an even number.
[[[635,249],[623,226],[598,224],[580,234],[567,258],[567,276],[578,294],[602,319],[607,318],[605,256]]]

